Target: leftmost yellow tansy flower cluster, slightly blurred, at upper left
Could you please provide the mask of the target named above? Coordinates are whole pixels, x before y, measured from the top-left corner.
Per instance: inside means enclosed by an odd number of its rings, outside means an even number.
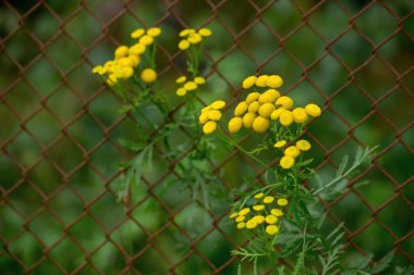
[[[107,61],[104,65],[95,66],[92,72],[105,77],[110,86],[117,85],[119,80],[126,80],[134,75],[134,71],[139,65],[141,58],[146,48],[154,43],[155,37],[161,34],[159,27],[135,29],[131,37],[139,39],[138,42],[127,46],[120,46],[114,51],[113,60]],[[145,68],[141,74],[145,83],[153,83],[157,79],[157,73],[153,68]]]

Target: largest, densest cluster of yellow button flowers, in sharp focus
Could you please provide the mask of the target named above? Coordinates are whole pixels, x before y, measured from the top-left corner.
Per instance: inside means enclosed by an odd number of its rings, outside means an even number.
[[[243,88],[253,86],[267,87],[265,92],[253,91],[234,110],[234,117],[229,121],[230,133],[239,132],[242,126],[253,128],[257,133],[266,132],[270,126],[270,120],[278,120],[281,125],[288,127],[292,123],[305,123],[308,116],[319,116],[321,111],[316,104],[307,104],[305,108],[293,109],[293,100],[288,96],[281,96],[276,88],[283,84],[279,75],[248,76],[243,80]]]

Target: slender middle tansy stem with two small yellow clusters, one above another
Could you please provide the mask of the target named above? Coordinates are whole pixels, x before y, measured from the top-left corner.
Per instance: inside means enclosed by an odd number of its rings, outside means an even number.
[[[205,40],[211,34],[209,28],[185,28],[179,34],[181,40],[178,47],[185,54],[186,72],[175,79],[175,95],[184,100],[176,121],[187,132],[190,139],[171,150],[173,158],[180,158],[188,148],[192,149],[181,159],[174,171],[183,179],[182,183],[187,184],[193,198],[202,201],[206,208],[210,208],[212,198],[217,198],[223,191],[216,175],[208,171],[209,158],[216,146],[210,138],[200,135],[197,118],[197,93],[206,83],[199,68],[200,57]],[[221,109],[224,104],[218,103],[218,108]]]

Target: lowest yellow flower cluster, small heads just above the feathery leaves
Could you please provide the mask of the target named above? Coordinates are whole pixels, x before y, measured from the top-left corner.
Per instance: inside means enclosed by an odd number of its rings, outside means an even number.
[[[279,218],[283,215],[281,209],[272,205],[276,198],[265,196],[263,192],[256,193],[254,198],[256,199],[256,204],[231,214],[230,218],[234,220],[238,229],[255,229],[264,226],[268,235],[276,235],[279,232]],[[278,207],[285,207],[288,200],[278,199],[276,203]]]

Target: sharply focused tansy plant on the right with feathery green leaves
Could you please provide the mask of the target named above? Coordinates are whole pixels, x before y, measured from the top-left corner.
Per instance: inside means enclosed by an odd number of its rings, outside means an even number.
[[[253,261],[254,274],[257,274],[258,259],[267,259],[278,274],[285,274],[285,266],[291,266],[285,265],[287,261],[294,263],[292,274],[342,274],[354,270],[365,274],[368,265],[353,266],[341,262],[342,225],[328,234],[325,232],[326,214],[320,211],[322,207],[317,207],[320,203],[317,196],[328,200],[332,193],[343,191],[348,178],[369,161],[373,149],[358,149],[352,165],[344,157],[331,180],[320,180],[308,166],[312,159],[305,158],[312,143],[302,136],[306,123],[320,116],[321,109],[312,102],[295,107],[291,97],[278,90],[282,85],[279,75],[248,76],[242,84],[248,93],[236,104],[227,127],[220,126],[220,109],[226,104],[221,100],[202,109],[198,117],[204,134],[218,130],[226,142],[266,168],[264,187],[248,185],[236,195],[239,200],[230,218],[234,228],[246,235],[248,242],[232,253],[240,255],[242,261]],[[263,136],[263,142],[247,150],[229,138],[224,128],[230,134],[243,128],[253,130]],[[263,150],[275,153],[276,166],[258,157]],[[306,180],[316,184],[305,186]]]

